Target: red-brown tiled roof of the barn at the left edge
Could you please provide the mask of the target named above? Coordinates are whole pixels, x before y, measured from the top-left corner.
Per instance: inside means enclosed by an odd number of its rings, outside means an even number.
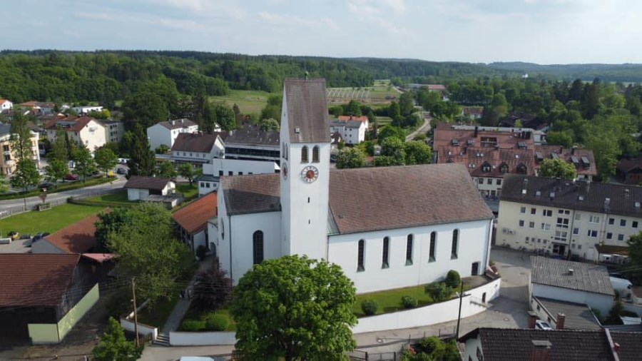
[[[79,255],[0,253],[0,307],[57,306]]]

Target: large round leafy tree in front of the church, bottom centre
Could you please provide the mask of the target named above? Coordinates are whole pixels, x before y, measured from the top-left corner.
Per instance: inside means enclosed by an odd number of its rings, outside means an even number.
[[[233,296],[235,348],[248,360],[334,360],[356,347],[355,286],[338,265],[298,255],[265,260]]]

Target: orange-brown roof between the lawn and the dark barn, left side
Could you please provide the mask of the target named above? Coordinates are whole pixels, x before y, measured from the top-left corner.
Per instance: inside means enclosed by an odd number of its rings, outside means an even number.
[[[106,209],[105,212],[109,213],[111,210]],[[91,215],[46,236],[45,240],[64,253],[87,253],[96,245],[96,222],[98,215]]]

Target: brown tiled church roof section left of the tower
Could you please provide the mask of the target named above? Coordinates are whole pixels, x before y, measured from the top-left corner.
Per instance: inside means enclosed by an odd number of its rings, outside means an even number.
[[[278,174],[220,177],[228,215],[275,212],[281,209]]]

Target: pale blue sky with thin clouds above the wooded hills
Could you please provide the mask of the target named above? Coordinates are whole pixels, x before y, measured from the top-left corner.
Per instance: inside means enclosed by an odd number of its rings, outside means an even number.
[[[4,0],[1,49],[642,63],[638,0]]]

